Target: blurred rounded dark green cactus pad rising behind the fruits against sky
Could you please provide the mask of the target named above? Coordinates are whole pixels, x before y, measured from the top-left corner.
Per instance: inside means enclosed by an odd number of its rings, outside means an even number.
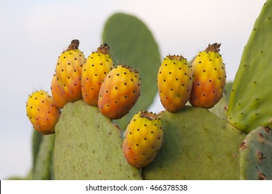
[[[141,96],[130,113],[117,120],[122,130],[134,114],[148,108],[155,97],[157,73],[160,66],[160,51],[146,25],[132,15],[117,13],[105,23],[103,42],[110,46],[114,64],[127,64],[139,71]],[[153,87],[151,87],[153,86]]]

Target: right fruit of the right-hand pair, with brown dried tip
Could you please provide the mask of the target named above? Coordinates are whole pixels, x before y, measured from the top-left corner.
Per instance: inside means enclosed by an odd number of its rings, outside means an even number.
[[[193,87],[189,103],[210,109],[219,102],[226,85],[225,64],[219,54],[221,44],[209,44],[192,63]]]

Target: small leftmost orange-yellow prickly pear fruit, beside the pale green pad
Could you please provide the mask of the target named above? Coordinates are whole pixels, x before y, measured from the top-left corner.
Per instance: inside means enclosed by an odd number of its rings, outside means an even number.
[[[36,91],[28,96],[26,115],[33,127],[42,134],[52,134],[60,118],[60,109],[53,103],[53,98],[46,91]]]

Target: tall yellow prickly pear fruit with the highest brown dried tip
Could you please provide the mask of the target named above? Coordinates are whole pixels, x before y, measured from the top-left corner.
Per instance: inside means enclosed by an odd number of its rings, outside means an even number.
[[[80,80],[81,70],[86,58],[85,55],[78,50],[78,46],[78,39],[73,39],[67,51],[62,52],[58,57],[56,65],[58,87],[60,91],[62,91],[62,96],[66,98],[65,104],[82,98]],[[58,93],[52,92],[53,98],[62,98],[62,96],[56,96],[56,94]]]

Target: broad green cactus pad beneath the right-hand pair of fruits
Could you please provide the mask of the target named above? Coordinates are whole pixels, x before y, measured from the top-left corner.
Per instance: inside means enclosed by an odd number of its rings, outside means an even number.
[[[160,115],[164,143],[144,179],[239,179],[245,134],[207,109],[187,106]]]

